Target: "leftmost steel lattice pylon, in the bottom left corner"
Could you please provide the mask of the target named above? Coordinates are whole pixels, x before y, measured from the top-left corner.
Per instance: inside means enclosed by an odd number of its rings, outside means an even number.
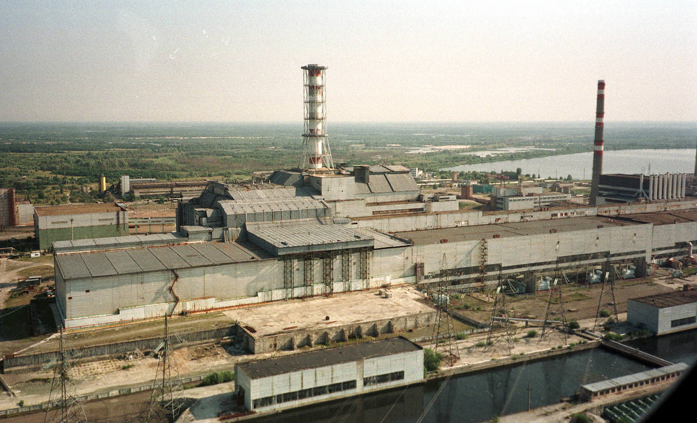
[[[63,325],[61,325],[60,351],[59,356],[51,360],[45,368],[56,364],[53,371],[53,380],[51,381],[51,392],[48,397],[49,407],[44,415],[44,422],[61,422],[74,423],[86,422],[87,417],[82,404],[77,401],[75,394],[77,388],[70,381],[68,371],[70,370],[70,362],[68,362],[68,351],[66,351],[66,343],[63,337]],[[57,397],[60,396],[60,399]]]

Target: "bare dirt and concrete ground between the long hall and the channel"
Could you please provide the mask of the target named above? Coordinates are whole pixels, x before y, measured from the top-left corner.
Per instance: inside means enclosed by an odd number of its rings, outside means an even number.
[[[43,259],[45,261],[45,259]],[[26,263],[26,264],[25,264]],[[7,264],[7,263],[6,263]],[[10,263],[14,275],[21,269],[31,269],[32,266],[43,266],[43,262],[15,262]],[[6,275],[3,275],[5,277]],[[659,269],[654,276],[637,280],[622,280],[615,284],[615,300],[620,313],[620,324],[613,325],[612,329],[618,333],[625,333],[631,328],[624,324],[626,319],[626,300],[636,296],[659,294],[669,292],[682,287],[685,283],[694,283],[696,276],[688,278],[669,278],[666,271]],[[592,328],[595,323],[595,314],[598,308],[600,294],[599,285],[590,287],[574,284],[562,287],[564,309],[567,321],[576,320],[581,328]],[[432,312],[433,309],[424,303],[422,294],[413,288],[393,287],[389,290],[391,298],[383,298],[376,291],[355,292],[351,294],[335,295],[332,297],[319,297],[305,301],[289,301],[287,303],[272,303],[261,306],[236,308],[224,312],[194,315],[189,317],[177,317],[171,319],[170,328],[173,333],[181,333],[190,330],[229,326],[235,320],[256,330],[256,335],[272,335],[283,330],[298,330],[301,328],[323,327],[326,324],[339,325],[358,323],[360,321],[381,318],[398,317],[403,314],[418,312]],[[556,298],[553,296],[553,298]],[[548,293],[526,294],[519,296],[507,296],[506,308],[512,316],[544,319],[546,312]],[[491,317],[493,298],[491,294],[473,294],[453,298],[453,304],[457,314],[462,314],[468,319],[486,322]],[[610,299],[604,298],[604,306],[609,308]],[[465,306],[467,304],[467,306]],[[497,307],[500,306],[497,305]],[[558,304],[552,305],[553,310],[560,310]],[[4,312],[4,310],[3,310]],[[558,312],[558,311],[557,311]],[[326,320],[329,317],[329,320]],[[551,319],[559,319],[556,314],[551,314]],[[461,321],[455,320],[455,331],[475,328]],[[605,321],[602,321],[605,323]],[[325,327],[325,326],[324,326]],[[575,335],[564,337],[556,330],[546,329],[544,338],[540,338],[542,328],[539,326],[526,326],[523,322],[512,325],[510,337],[505,331],[498,328],[493,333],[491,342],[487,344],[487,332],[472,335],[461,335],[457,341],[460,358],[452,363],[454,366],[482,365],[491,362],[492,359],[500,359],[510,356],[524,356],[549,349],[557,349],[562,345],[583,344],[584,340]],[[404,333],[408,337],[428,337],[433,328],[419,328],[412,333]],[[534,333],[533,333],[534,331]],[[162,321],[146,322],[117,328],[105,328],[100,330],[84,330],[70,333],[66,337],[72,348],[91,344],[118,342],[137,339],[137,337],[156,337],[162,333]],[[176,337],[176,336],[175,336]],[[55,351],[58,347],[58,337],[34,337],[0,343],[3,353],[26,349],[28,344],[33,344],[25,352]],[[430,342],[424,342],[429,346]],[[176,369],[181,376],[193,376],[197,374],[210,374],[224,370],[231,370],[238,360],[258,359],[277,354],[294,353],[294,351],[277,351],[250,355],[236,346],[234,341],[223,344],[181,344],[174,353]],[[93,392],[105,392],[118,388],[134,385],[143,385],[151,382],[155,376],[158,360],[153,358],[149,351],[137,351],[132,357],[107,358],[102,360],[75,362],[70,369],[70,380],[75,383],[78,394]],[[522,359],[522,358],[521,358]],[[446,360],[447,361],[447,360]],[[450,362],[443,362],[444,366]],[[17,397],[3,395],[0,398],[0,408],[16,407],[19,401],[23,404],[40,404],[47,400],[53,377],[52,369],[24,374],[5,374],[3,381],[8,383],[15,391]],[[229,386],[227,389],[232,389]],[[206,388],[197,388],[206,390]],[[217,392],[220,394],[220,392]],[[200,392],[198,397],[205,397]],[[124,397],[125,398],[125,397]],[[134,397],[135,398],[135,397]],[[109,399],[114,404],[121,404],[118,397]],[[140,401],[139,399],[137,401]],[[136,402],[137,402],[136,401]],[[93,405],[90,407],[98,407]],[[139,406],[129,406],[138,408]]]

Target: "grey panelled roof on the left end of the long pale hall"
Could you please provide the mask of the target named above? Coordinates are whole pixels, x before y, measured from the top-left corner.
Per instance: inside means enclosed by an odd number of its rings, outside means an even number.
[[[256,253],[235,243],[205,242],[57,254],[56,266],[63,274],[63,278],[75,279],[141,271],[186,269],[260,259],[261,257]]]

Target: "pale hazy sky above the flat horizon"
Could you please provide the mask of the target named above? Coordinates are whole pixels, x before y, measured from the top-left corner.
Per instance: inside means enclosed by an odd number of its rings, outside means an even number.
[[[0,121],[697,121],[696,1],[3,1]]]

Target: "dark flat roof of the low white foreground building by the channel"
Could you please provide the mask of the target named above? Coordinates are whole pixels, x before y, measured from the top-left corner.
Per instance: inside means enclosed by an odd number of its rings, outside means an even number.
[[[298,372],[304,369],[326,367],[343,362],[354,362],[369,357],[390,356],[392,354],[408,353],[422,349],[420,346],[403,337],[388,338],[372,342],[359,342],[335,348],[296,353],[289,356],[267,358],[238,363],[251,379],[276,376],[278,374]]]

